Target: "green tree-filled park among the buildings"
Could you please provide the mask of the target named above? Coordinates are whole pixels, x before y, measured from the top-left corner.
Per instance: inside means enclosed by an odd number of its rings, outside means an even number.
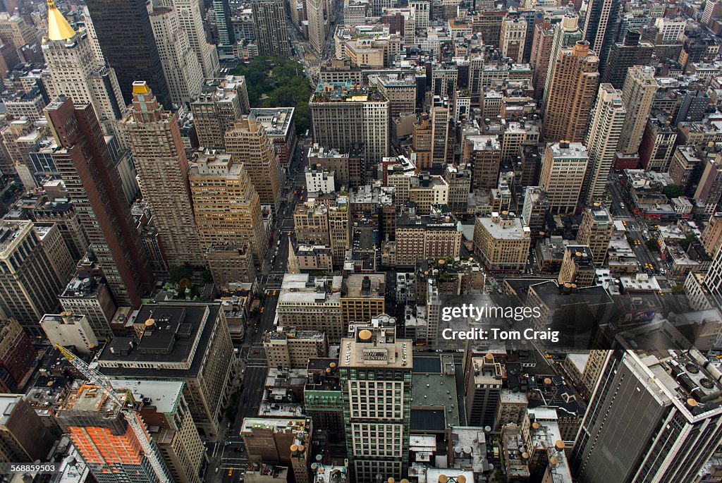
[[[251,107],[295,107],[296,132],[309,129],[311,87],[300,62],[282,56],[254,57],[236,67],[233,74],[245,76]]]

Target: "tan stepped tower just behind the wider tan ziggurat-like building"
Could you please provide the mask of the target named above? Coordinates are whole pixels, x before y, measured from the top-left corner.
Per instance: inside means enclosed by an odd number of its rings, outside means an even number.
[[[248,116],[235,123],[225,134],[226,152],[243,163],[261,204],[276,212],[281,203],[281,169],[278,153],[266,129]]]

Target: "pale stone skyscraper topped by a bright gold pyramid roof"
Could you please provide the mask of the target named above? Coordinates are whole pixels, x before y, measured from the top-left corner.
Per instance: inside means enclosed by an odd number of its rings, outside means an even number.
[[[75,32],[53,0],[48,1],[48,38],[43,55],[58,95],[90,104],[104,134],[118,134],[126,113],[116,71],[97,56],[86,30]],[[121,138],[122,139],[122,138]]]

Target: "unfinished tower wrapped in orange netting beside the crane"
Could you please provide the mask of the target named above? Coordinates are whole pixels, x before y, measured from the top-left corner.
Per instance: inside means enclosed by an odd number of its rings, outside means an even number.
[[[130,391],[123,391],[118,396],[128,401],[128,404],[137,404]],[[69,433],[75,448],[99,483],[115,483],[119,480],[136,483],[158,481],[149,457],[123,417],[121,407],[102,388],[83,384],[69,394],[58,410],[57,417],[58,423]],[[147,431],[139,414],[133,414],[132,417],[138,418],[141,427]],[[163,473],[170,477],[168,466],[163,462],[152,438],[150,444],[162,465]]]

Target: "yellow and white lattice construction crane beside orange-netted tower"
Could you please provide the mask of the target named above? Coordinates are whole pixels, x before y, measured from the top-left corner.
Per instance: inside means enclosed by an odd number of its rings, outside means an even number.
[[[121,414],[123,414],[123,417],[128,422],[131,430],[133,430],[136,439],[138,440],[141,448],[143,449],[143,453],[145,454],[146,458],[148,458],[150,466],[152,467],[153,472],[155,473],[155,477],[157,477],[158,479],[158,482],[170,483],[170,477],[168,477],[168,474],[165,471],[165,465],[162,464],[160,458],[158,458],[158,454],[152,446],[150,436],[147,432],[145,432],[144,428],[142,427],[139,421],[140,418],[138,416],[138,412],[136,412],[135,407],[132,405],[132,401],[129,405],[129,399],[127,397],[123,396],[123,398],[121,399],[121,395],[118,394],[116,392],[116,389],[113,388],[113,385],[110,384],[110,380],[105,377],[105,375],[97,372],[97,370],[92,369],[92,367],[88,366],[85,361],[82,360],[80,357],[77,357],[77,355],[73,354],[60,344],[55,344],[55,347],[60,351],[61,354],[64,355],[68,362],[73,365],[73,367],[79,370],[80,373],[84,375],[87,380],[90,381],[90,383],[99,387],[106,396],[108,396],[116,404],[118,404],[118,406],[121,408]]]

